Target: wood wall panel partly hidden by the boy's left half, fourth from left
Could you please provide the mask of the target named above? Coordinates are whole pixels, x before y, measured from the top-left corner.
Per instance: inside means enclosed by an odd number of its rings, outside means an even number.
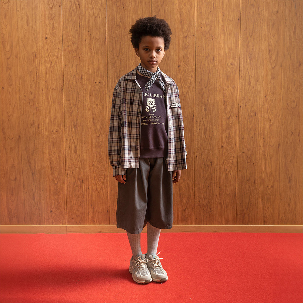
[[[119,78],[140,63],[130,42],[128,31],[136,20],[150,15],[151,0],[107,1],[108,117],[112,107],[112,94]],[[108,165],[108,175],[109,222],[115,224],[118,182],[112,177],[110,165]]]

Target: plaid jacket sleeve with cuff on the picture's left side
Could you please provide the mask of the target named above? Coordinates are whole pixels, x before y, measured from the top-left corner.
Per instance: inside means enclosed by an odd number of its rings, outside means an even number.
[[[112,111],[108,131],[108,157],[113,168],[113,176],[126,175],[126,169],[121,168],[121,92],[120,81],[113,93]]]

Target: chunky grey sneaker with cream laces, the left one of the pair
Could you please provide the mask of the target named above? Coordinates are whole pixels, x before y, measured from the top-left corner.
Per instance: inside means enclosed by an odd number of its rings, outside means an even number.
[[[146,266],[147,259],[145,255],[131,258],[129,272],[132,274],[133,280],[137,283],[146,284],[151,282],[151,274]]]

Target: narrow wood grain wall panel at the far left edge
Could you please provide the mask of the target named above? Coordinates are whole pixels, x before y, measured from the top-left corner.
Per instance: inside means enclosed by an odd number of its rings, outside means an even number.
[[[17,2],[1,1],[1,224],[25,224]]]

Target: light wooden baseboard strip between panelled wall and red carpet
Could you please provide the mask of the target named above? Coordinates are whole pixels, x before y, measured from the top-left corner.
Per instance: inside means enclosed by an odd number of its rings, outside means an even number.
[[[2,234],[125,233],[116,225],[1,225]],[[146,232],[146,227],[143,229]],[[302,233],[302,225],[174,225],[162,232],[285,232]]]

